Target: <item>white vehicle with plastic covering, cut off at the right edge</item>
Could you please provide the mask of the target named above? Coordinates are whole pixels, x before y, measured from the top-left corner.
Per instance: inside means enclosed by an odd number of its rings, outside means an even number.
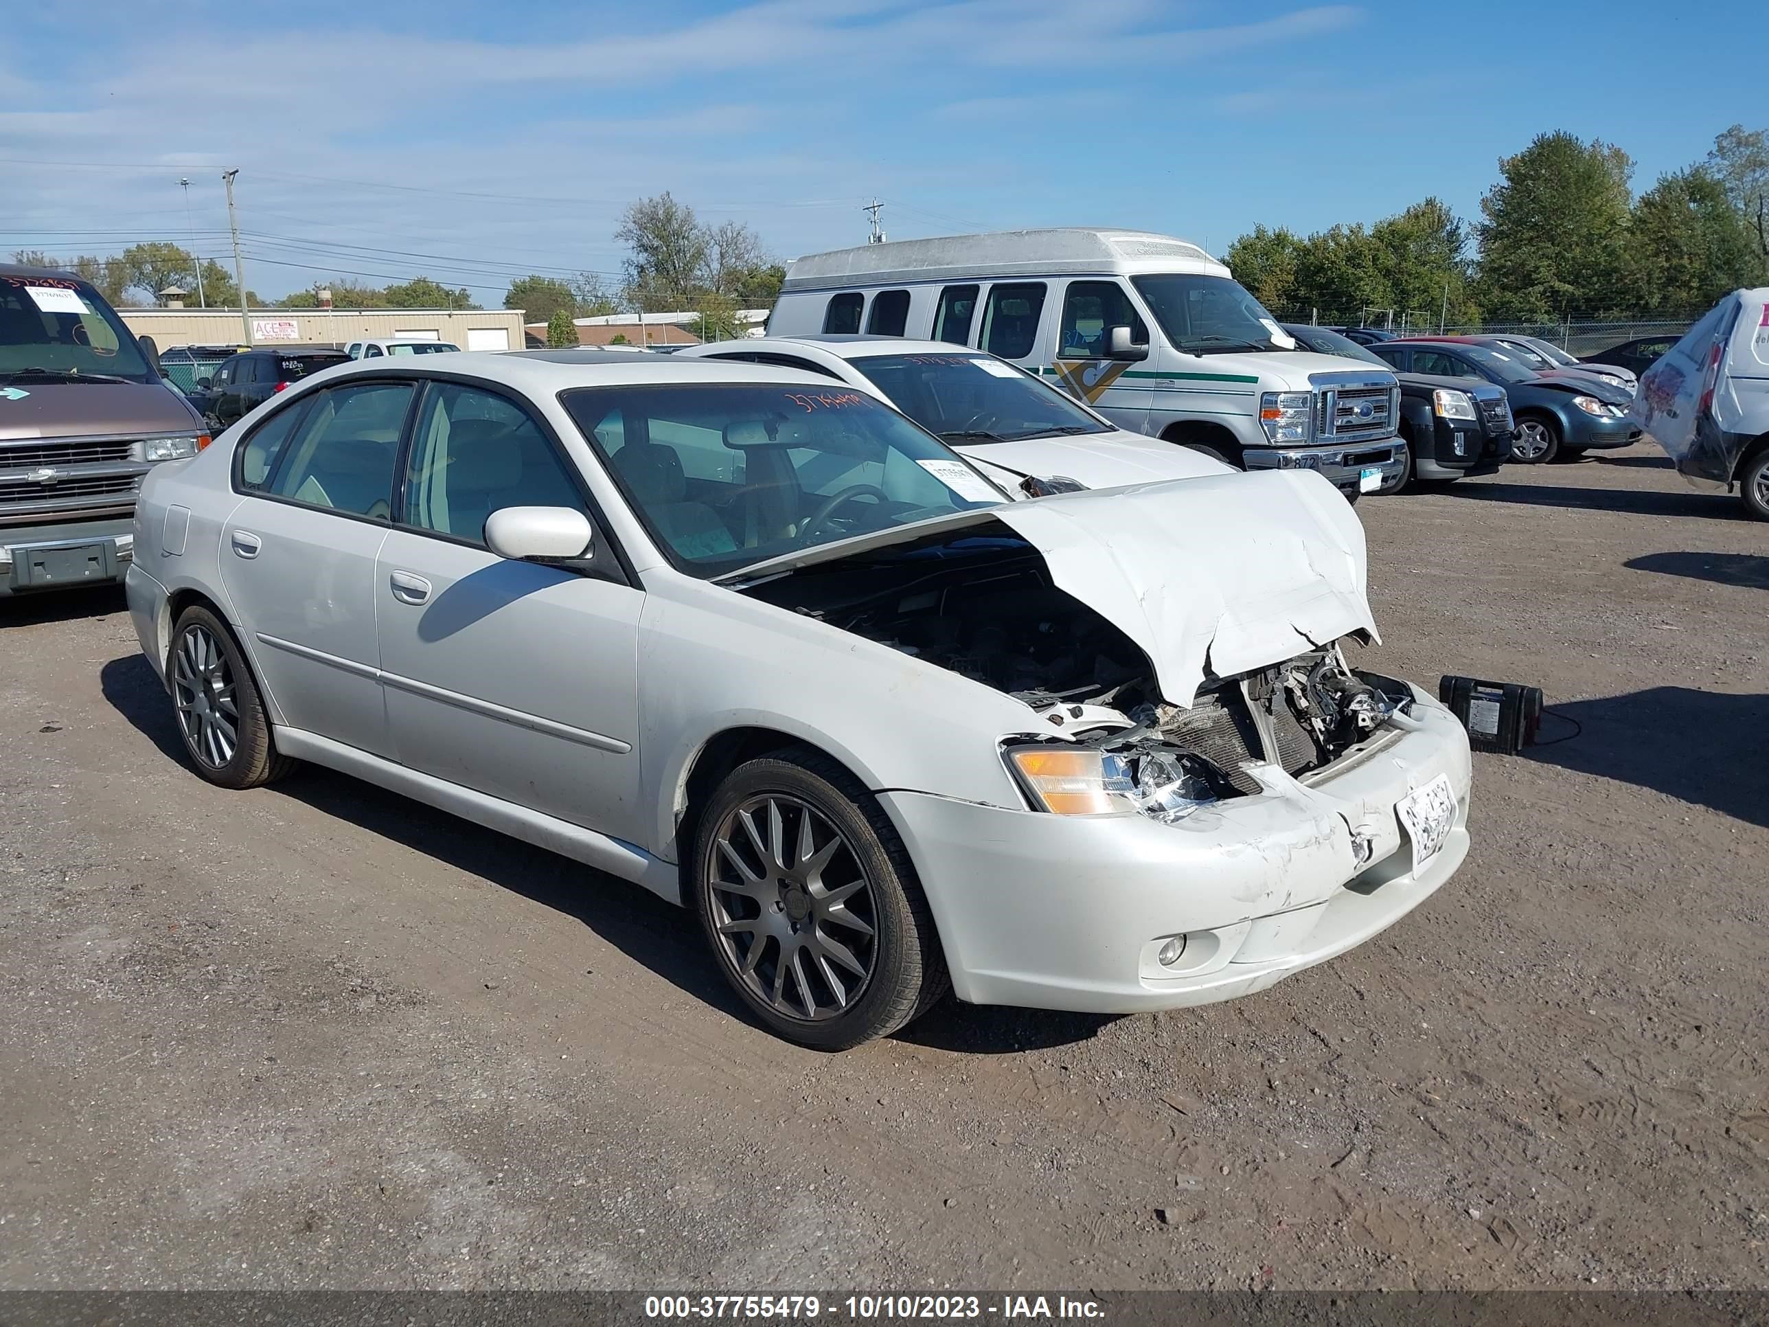
[[[1635,419],[1677,471],[1769,520],[1769,287],[1734,290],[1640,379]]]

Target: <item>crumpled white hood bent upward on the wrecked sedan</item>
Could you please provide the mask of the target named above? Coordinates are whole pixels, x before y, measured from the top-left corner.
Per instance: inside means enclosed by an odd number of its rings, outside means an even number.
[[[1313,471],[1061,494],[996,508],[1051,577],[1136,640],[1160,694],[1191,706],[1233,676],[1366,632],[1364,527]]]

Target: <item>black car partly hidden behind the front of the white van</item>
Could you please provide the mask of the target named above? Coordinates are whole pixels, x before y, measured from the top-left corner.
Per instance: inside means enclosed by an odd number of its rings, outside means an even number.
[[[1304,350],[1389,366],[1332,327],[1286,322],[1284,331]],[[1396,377],[1401,384],[1398,432],[1406,442],[1406,471],[1376,492],[1399,492],[1413,479],[1445,483],[1465,474],[1493,474],[1511,456],[1512,421],[1504,387],[1429,373]]]

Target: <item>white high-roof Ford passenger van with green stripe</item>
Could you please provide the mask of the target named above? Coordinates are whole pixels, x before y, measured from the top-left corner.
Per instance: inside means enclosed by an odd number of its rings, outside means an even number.
[[[1406,472],[1399,386],[1297,349],[1228,267],[1137,230],[1008,230],[814,253],[770,336],[915,336],[1053,379],[1120,428],[1244,469],[1316,469],[1348,497]]]

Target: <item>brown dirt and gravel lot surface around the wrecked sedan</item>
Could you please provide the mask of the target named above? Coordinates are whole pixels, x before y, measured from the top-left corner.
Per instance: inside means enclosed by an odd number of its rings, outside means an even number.
[[[1359,511],[1366,662],[1583,725],[1475,757],[1461,874],[1249,1000],[842,1056],[635,886],[209,787],[120,594],[0,602],[0,1285],[1769,1285],[1769,527],[1649,448]]]

